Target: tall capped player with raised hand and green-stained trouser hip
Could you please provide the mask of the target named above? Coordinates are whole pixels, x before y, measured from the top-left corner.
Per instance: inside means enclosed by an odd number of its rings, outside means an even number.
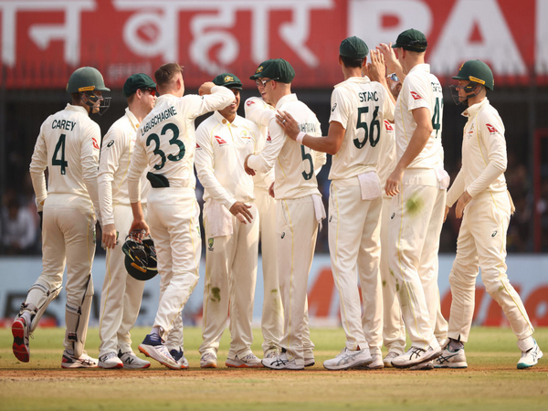
[[[391,50],[385,52],[388,68],[406,78],[395,104],[397,163],[385,184],[386,194],[394,196],[388,242],[390,269],[412,344],[392,364],[409,368],[441,354],[441,337],[434,334],[439,311],[437,250],[449,177],[441,145],[443,93],[425,64],[427,38],[409,29],[392,47],[398,60]]]

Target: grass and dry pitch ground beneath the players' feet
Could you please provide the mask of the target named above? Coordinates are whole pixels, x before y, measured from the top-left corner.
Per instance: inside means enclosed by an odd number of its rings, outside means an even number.
[[[134,350],[148,329],[133,330]],[[260,354],[260,331],[253,350]],[[185,328],[190,368],[61,370],[62,329],[38,329],[30,363],[18,363],[9,329],[0,329],[0,410],[219,410],[406,409],[547,410],[548,328],[535,338],[547,353],[535,367],[517,370],[520,353],[510,329],[473,328],[466,370],[328,372],[321,363],[338,353],[342,329],[312,329],[316,365],[305,371],[227,369],[228,330],[219,368],[201,370],[200,329]],[[97,357],[99,332],[90,329],[88,353]]]

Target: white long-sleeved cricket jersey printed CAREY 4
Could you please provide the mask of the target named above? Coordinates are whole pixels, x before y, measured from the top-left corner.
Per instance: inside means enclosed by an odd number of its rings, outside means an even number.
[[[100,128],[85,108],[67,104],[40,127],[30,162],[37,203],[69,205],[99,211],[97,167]],[[44,170],[47,167],[47,189]],[[56,196],[52,196],[56,195]]]

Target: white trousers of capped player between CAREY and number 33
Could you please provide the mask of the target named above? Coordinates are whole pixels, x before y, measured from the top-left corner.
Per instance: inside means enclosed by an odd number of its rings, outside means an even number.
[[[128,274],[124,264],[125,254],[121,250],[132,227],[132,207],[118,204],[114,205],[113,211],[119,237],[115,248],[107,249],[107,267],[100,293],[99,356],[118,353],[118,349],[122,353],[132,351],[130,330],[139,315],[145,283]],[[143,211],[146,212],[145,206]]]

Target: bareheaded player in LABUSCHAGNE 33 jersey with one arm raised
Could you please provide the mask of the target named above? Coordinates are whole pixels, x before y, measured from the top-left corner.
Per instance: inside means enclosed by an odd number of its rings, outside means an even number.
[[[128,189],[133,222],[130,230],[149,231],[141,205],[141,175],[147,166],[152,189],[148,196],[148,222],[165,290],[160,297],[152,331],[139,351],[171,369],[181,369],[163,342],[179,322],[184,304],[195,289],[200,264],[199,206],[195,197],[195,118],[221,110],[234,93],[211,82],[200,96],[184,96],[183,68],[164,64],[154,73],[160,97],[137,131]]]

